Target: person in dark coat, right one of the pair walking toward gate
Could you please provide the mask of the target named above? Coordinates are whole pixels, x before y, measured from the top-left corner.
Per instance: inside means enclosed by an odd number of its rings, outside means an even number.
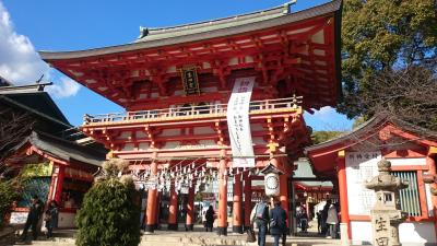
[[[274,238],[274,246],[280,245],[280,237],[286,232],[286,212],[281,208],[281,201],[273,199],[274,208],[270,210],[270,234]]]

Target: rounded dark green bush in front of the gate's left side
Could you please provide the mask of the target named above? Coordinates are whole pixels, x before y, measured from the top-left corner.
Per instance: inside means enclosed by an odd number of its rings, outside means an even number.
[[[140,208],[132,177],[118,178],[126,161],[109,160],[86,192],[78,213],[78,246],[137,246],[140,243]]]

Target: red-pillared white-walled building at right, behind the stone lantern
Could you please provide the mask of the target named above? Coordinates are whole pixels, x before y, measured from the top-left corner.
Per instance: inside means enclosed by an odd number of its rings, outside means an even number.
[[[338,184],[343,243],[371,244],[375,192],[365,183],[378,175],[382,157],[391,174],[409,183],[400,191],[408,220],[400,224],[403,245],[437,243],[437,132],[388,116],[376,116],[352,132],[306,148],[315,174]]]

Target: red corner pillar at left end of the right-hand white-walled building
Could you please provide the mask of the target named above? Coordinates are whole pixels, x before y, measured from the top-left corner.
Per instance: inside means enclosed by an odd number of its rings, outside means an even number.
[[[347,181],[346,181],[346,159],[345,152],[339,151],[336,159],[338,177],[339,177],[339,195],[340,195],[340,212],[341,212],[341,226],[347,232],[347,241],[351,239],[351,220],[349,218],[349,203],[347,203]]]

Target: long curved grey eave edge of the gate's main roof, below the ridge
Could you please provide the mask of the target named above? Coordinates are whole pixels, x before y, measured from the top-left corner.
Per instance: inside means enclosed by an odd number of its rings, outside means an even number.
[[[146,48],[156,48],[164,47],[176,44],[191,43],[203,39],[216,38],[231,36],[247,32],[253,32],[259,30],[265,30],[274,26],[281,26],[290,23],[295,23],[299,21],[305,21],[311,17],[323,16],[327,14],[334,14],[338,11],[341,11],[342,0],[333,0],[331,2],[314,7],[311,9],[303,10],[296,13],[277,16],[264,21],[259,21],[255,23],[243,24],[238,26],[229,26],[226,28],[213,30],[209,32],[187,34],[184,36],[174,36],[163,39],[155,39],[150,42],[138,42],[118,46],[109,46],[103,48],[93,48],[86,50],[76,50],[76,51],[39,51],[43,60],[52,61],[52,60],[61,60],[61,59],[75,59],[75,58],[85,58],[85,57],[94,57],[109,54],[119,54],[126,51],[133,51],[138,49],[146,49]]]

